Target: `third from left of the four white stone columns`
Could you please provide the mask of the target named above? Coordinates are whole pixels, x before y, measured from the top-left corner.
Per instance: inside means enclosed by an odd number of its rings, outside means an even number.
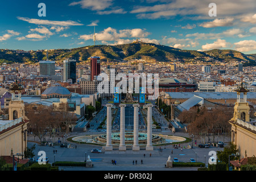
[[[134,104],[133,150],[139,150],[139,104]]]

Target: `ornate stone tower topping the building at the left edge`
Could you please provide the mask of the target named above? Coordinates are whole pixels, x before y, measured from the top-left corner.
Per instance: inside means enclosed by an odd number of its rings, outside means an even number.
[[[25,115],[25,105],[21,100],[21,90],[23,88],[18,85],[17,81],[10,88],[11,91],[11,101],[9,103],[9,120],[14,120],[18,118],[24,118]],[[16,96],[18,93],[18,97]]]

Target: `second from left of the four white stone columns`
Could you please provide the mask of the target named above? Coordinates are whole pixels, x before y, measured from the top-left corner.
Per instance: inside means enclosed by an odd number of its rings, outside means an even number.
[[[125,104],[120,104],[120,144],[119,150],[126,150],[125,146]]]

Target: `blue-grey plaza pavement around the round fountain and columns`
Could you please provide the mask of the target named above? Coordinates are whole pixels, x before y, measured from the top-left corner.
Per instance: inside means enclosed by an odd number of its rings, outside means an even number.
[[[81,136],[81,135],[91,135],[91,134],[105,134],[102,132],[97,132],[96,128],[100,125],[101,119],[105,118],[105,109],[102,109],[100,113],[93,119],[89,131],[81,132],[81,133],[69,133],[69,137]],[[179,137],[189,137],[188,133],[183,132],[176,132],[172,133],[170,129],[166,130],[168,127],[168,123],[163,115],[159,115],[160,120],[162,122],[162,130],[153,131],[153,134],[163,134],[163,135],[175,135]],[[96,121],[98,121],[96,123]],[[62,143],[65,142],[65,138],[61,138],[58,136]],[[58,139],[56,137],[56,140]],[[34,137],[28,135],[28,140],[33,141]],[[219,138],[219,141],[221,139]],[[223,140],[222,140],[223,141]],[[224,142],[229,142],[230,138],[225,137]],[[210,158],[209,152],[210,151],[218,151],[223,150],[220,147],[213,147],[210,146],[209,148],[199,148],[193,144],[193,148],[188,149],[188,143],[180,144],[179,148],[174,148],[172,145],[166,146],[154,146],[154,151],[146,151],[142,147],[140,151],[105,151],[102,146],[95,146],[92,144],[75,144],[72,142],[71,148],[62,148],[60,146],[39,146],[36,144],[35,149],[35,159],[39,156],[37,155],[39,151],[45,151],[46,156],[49,158],[49,163],[54,162],[54,155],[55,161],[72,161],[72,162],[84,162],[85,157],[90,155],[90,159],[93,163],[93,168],[85,168],[85,167],[59,167],[59,169],[63,169],[64,171],[197,171],[197,167],[182,167],[182,168],[165,168],[165,164],[167,162],[168,156],[171,156],[171,159],[178,158],[179,162],[188,162],[189,159],[193,158],[196,159],[197,162],[202,162],[208,164],[208,159]],[[200,138],[197,139],[197,144],[201,143]],[[34,142],[28,142],[28,147],[32,146]],[[189,142],[192,145],[192,142]],[[225,143],[224,146],[226,146]],[[77,148],[75,148],[77,146]],[[179,146],[179,144],[177,144]],[[162,148],[162,151],[159,148]],[[183,150],[181,151],[181,147]],[[185,148],[184,148],[185,147]],[[90,152],[92,148],[98,148],[102,150],[102,153],[95,154]],[[114,147],[118,148],[118,147]],[[129,148],[129,147],[128,147]],[[56,154],[53,154],[53,150],[57,150]],[[171,154],[173,151],[173,154]],[[86,156],[85,156],[86,152]],[[150,153],[152,156],[150,157]],[[143,156],[145,154],[145,158]],[[112,164],[112,160],[117,161],[117,165]],[[134,165],[133,165],[134,160]],[[137,164],[135,164],[135,160],[137,160]],[[141,160],[143,160],[143,164],[141,164]]]

